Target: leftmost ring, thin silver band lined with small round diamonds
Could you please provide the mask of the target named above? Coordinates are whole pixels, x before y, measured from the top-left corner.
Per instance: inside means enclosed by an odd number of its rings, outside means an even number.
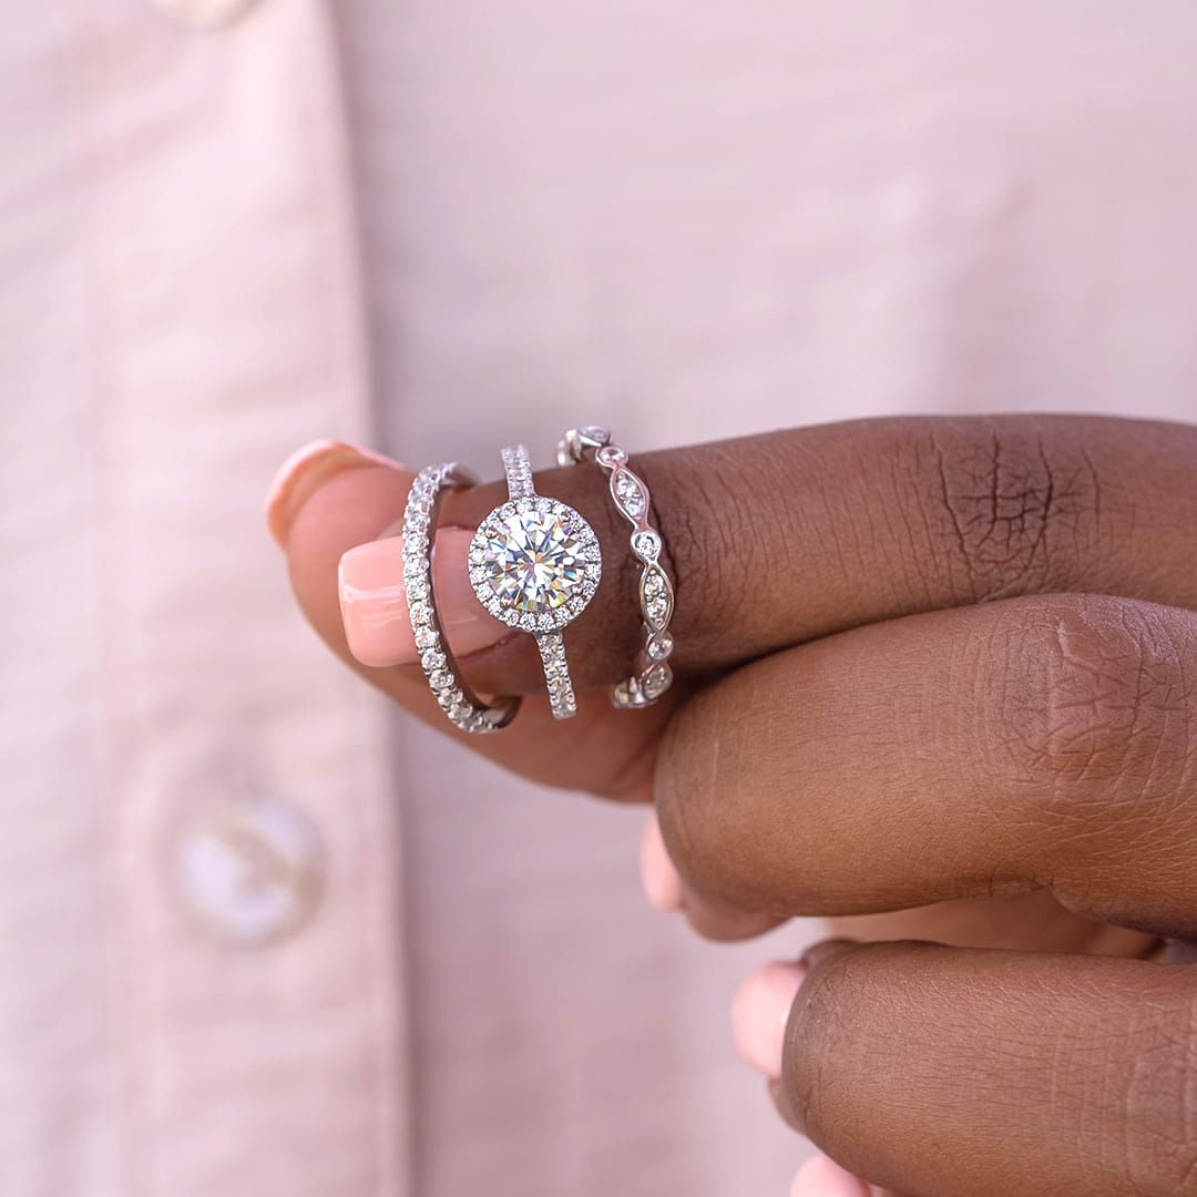
[[[403,512],[403,588],[420,667],[437,703],[452,724],[479,735],[506,727],[519,710],[519,698],[503,698],[488,706],[461,680],[437,618],[432,588],[432,541],[440,500],[445,490],[475,481],[454,462],[429,466],[415,475]]]

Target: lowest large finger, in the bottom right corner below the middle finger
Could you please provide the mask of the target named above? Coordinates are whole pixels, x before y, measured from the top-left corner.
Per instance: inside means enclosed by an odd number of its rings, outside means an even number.
[[[1195,997],[1184,966],[840,946],[810,964],[772,1067],[795,1126],[899,1192],[1191,1192]]]

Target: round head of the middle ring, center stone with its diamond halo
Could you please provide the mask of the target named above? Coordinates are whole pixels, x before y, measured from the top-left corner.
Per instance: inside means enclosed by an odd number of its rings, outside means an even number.
[[[524,632],[559,631],[577,619],[601,578],[598,537],[557,499],[503,503],[470,541],[469,581],[478,601]]]

